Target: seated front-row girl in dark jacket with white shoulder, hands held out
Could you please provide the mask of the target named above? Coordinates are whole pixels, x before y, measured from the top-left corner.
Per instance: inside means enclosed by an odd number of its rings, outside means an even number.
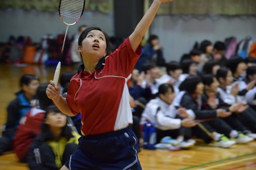
[[[192,109],[196,115],[195,119],[208,130],[208,133],[205,133],[200,126],[195,126],[192,128],[193,134],[203,138],[206,143],[211,142],[213,139],[214,145],[218,147],[232,146],[236,142],[230,141],[226,136],[231,137],[230,133],[233,129],[225,121],[218,118],[228,117],[231,112],[227,112],[225,109],[204,110],[201,96],[203,92],[204,84],[201,78],[199,76],[189,76],[180,84],[180,93],[175,101],[186,109]]]

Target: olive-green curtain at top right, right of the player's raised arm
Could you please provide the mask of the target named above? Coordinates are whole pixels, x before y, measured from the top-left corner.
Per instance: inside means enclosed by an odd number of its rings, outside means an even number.
[[[256,15],[255,0],[174,0],[163,3],[159,15]]]

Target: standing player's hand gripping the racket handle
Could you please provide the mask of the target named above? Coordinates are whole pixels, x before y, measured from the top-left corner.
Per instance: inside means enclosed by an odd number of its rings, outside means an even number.
[[[46,95],[49,99],[52,99],[54,103],[60,100],[60,87],[55,86],[55,83],[50,80],[50,84],[46,88]]]

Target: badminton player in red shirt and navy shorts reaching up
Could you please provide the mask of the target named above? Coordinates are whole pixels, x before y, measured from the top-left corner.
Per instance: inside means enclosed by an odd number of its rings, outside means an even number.
[[[78,50],[84,65],[69,83],[67,98],[52,81],[46,91],[61,112],[81,113],[79,148],[61,169],[142,169],[138,139],[129,126],[133,122],[127,82],[159,6],[171,1],[154,0],[134,32],[107,57],[109,41],[100,28],[81,33]]]

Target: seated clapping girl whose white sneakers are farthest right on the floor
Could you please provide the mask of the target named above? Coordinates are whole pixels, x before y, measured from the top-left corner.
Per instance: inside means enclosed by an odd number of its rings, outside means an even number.
[[[253,138],[256,137],[256,134],[251,133],[239,120],[238,115],[247,109],[247,106],[243,105],[242,103],[234,103],[232,105],[224,103],[221,99],[220,95],[218,94],[218,80],[210,74],[205,74],[201,76],[203,83],[204,83],[204,94],[202,108],[206,110],[211,109],[226,109],[226,111],[232,112],[232,114],[228,117],[222,117],[221,119],[224,120],[228,125],[230,125],[234,130],[239,131],[237,138],[235,141],[237,143],[247,143],[252,141]],[[236,133],[236,132],[232,132]],[[247,137],[247,136],[248,137]],[[249,138],[250,137],[250,138]]]

